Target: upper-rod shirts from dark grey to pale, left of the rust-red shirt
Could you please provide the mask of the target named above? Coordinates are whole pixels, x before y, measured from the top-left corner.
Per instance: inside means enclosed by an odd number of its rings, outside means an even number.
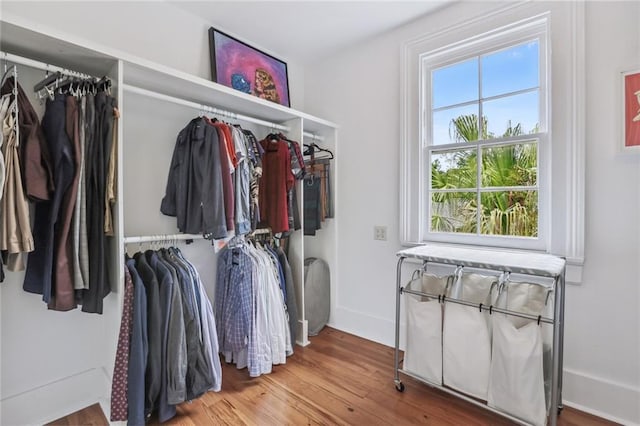
[[[255,136],[238,126],[198,117],[176,140],[160,211],[178,229],[223,239],[259,222],[261,155]]]

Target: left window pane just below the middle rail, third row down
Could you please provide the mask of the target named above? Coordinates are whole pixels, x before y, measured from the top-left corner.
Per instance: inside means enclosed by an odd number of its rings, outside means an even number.
[[[434,189],[476,188],[478,156],[475,149],[431,154],[431,187]]]

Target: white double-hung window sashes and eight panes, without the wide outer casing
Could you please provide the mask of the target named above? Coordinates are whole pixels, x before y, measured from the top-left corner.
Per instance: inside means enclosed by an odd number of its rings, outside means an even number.
[[[474,45],[421,57],[424,239],[544,248],[544,27]]]

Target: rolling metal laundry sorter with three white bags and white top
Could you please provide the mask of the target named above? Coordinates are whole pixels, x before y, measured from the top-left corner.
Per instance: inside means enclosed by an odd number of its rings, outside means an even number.
[[[396,389],[405,390],[403,373],[517,423],[555,426],[562,410],[565,260],[430,245],[397,256]],[[419,266],[403,285],[406,259]]]

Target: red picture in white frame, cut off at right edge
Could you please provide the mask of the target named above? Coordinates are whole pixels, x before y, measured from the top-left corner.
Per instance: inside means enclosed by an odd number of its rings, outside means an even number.
[[[622,146],[640,152],[640,70],[622,73]]]

